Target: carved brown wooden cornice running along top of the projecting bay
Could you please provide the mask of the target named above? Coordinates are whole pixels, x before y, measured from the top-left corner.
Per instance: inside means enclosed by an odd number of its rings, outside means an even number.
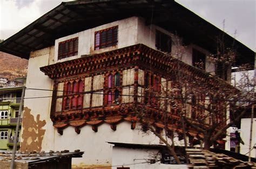
[[[139,65],[150,67],[159,71],[172,72],[182,69],[183,73],[193,75],[194,79],[208,83],[209,85],[222,84],[232,88],[230,84],[213,76],[201,69],[185,64],[179,59],[173,58],[170,54],[153,50],[143,44],[132,45],[117,50],[85,55],[78,59],[58,62],[53,65],[41,67],[40,70],[51,79],[68,78],[69,76],[97,73],[115,67],[129,67]]]

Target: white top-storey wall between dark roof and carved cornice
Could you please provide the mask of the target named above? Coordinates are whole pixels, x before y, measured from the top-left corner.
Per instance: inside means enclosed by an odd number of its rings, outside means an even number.
[[[117,46],[111,46],[111,47],[106,47],[99,50],[94,50],[95,32],[99,30],[107,29],[109,27],[117,26],[117,25],[118,25]],[[51,61],[51,64],[60,62],[60,61],[80,58],[81,55],[85,55],[85,54],[102,53],[102,52],[111,51],[117,48],[122,48],[130,45],[134,45],[134,44],[144,44],[146,46],[153,48],[154,50],[157,50],[156,49],[156,30],[161,31],[172,38],[171,54],[173,57],[179,58],[183,60],[186,64],[192,65],[192,50],[193,48],[195,48],[196,50],[206,55],[206,65],[205,65],[206,72],[214,71],[215,69],[214,64],[212,64],[210,60],[208,60],[208,57],[210,57],[210,52],[194,44],[183,46],[183,39],[176,36],[176,34],[168,32],[156,25],[146,25],[145,20],[139,17],[131,17],[131,18],[118,20],[116,22],[97,26],[89,30],[85,30],[82,32],[71,34],[70,36],[56,39],[55,55],[54,55],[53,62]],[[76,37],[78,37],[78,55],[58,60],[58,44],[61,41],[69,40]]]

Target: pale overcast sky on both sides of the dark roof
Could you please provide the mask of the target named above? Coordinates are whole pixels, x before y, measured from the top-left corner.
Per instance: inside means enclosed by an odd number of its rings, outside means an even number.
[[[256,51],[256,0],[176,0]],[[0,0],[0,39],[6,39],[62,0]]]

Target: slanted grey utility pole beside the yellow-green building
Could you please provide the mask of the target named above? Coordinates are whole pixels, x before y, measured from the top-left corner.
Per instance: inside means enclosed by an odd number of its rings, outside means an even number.
[[[24,94],[25,94],[25,86],[23,86],[22,88],[21,104],[19,104],[18,120],[17,120],[16,132],[14,137],[14,147],[12,149],[12,157],[11,157],[11,169],[14,169],[15,154],[17,149],[17,137],[18,137],[18,131],[19,131],[19,122],[21,121],[21,112],[23,109]]]

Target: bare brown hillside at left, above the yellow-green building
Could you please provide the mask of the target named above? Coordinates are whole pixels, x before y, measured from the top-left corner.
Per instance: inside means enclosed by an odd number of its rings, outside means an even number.
[[[26,76],[28,60],[0,52],[0,77],[14,80]]]

